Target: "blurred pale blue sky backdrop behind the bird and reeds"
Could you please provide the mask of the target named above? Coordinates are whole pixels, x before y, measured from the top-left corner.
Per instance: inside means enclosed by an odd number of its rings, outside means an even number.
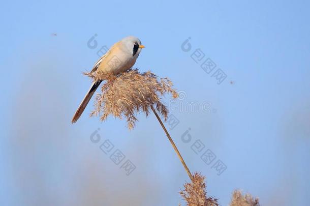
[[[188,175],[153,114],[139,114],[129,131],[112,116],[89,118],[92,99],[71,124],[91,82],[81,73],[104,46],[133,35],[146,47],[135,66],[182,92],[163,99],[173,115],[166,126],[191,171],[206,175],[208,195],[228,205],[240,188],[262,205],[306,205],[309,6],[3,2],[0,204],[184,204],[178,192]],[[107,140],[114,147],[106,154]],[[121,162],[113,162],[115,151]],[[203,161],[206,153],[214,158]]]

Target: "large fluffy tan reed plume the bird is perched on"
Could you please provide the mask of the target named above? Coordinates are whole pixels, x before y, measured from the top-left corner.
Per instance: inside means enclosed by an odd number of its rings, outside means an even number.
[[[151,108],[155,108],[167,120],[168,109],[161,102],[161,96],[171,94],[172,98],[178,97],[168,78],[158,78],[150,71],[140,73],[137,69],[131,69],[117,75],[97,72],[84,74],[94,80],[106,80],[101,86],[102,94],[97,94],[95,110],[90,116],[100,115],[101,121],[105,121],[110,114],[119,119],[125,117],[129,129],[134,128],[137,113],[143,111],[148,116]]]

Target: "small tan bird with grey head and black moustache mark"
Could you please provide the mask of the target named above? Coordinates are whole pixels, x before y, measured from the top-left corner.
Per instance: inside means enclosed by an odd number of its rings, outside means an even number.
[[[92,67],[91,72],[119,74],[131,69],[137,61],[141,49],[145,48],[137,37],[129,36],[116,42]],[[73,115],[71,123],[76,123],[92,95],[103,80],[96,80],[90,86],[84,99]]]

